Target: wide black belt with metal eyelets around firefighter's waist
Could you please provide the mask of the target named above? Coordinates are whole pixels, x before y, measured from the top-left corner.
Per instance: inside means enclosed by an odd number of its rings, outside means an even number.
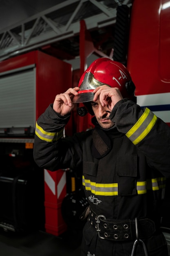
[[[113,241],[144,239],[155,233],[155,222],[150,219],[109,220],[90,210],[88,222],[98,232],[99,238]]]

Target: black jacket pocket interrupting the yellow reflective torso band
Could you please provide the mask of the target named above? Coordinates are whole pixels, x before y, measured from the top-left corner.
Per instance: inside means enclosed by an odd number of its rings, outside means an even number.
[[[117,157],[118,195],[137,194],[137,155]]]

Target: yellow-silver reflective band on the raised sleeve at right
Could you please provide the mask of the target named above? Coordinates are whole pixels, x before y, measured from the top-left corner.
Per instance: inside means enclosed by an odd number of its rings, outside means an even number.
[[[155,125],[157,117],[148,108],[145,109],[144,114],[139,118],[137,123],[126,133],[126,136],[137,145],[150,132]]]

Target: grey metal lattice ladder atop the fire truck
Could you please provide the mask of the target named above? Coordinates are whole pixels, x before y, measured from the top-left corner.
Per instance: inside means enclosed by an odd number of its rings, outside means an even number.
[[[0,61],[79,34],[80,20],[88,30],[115,23],[117,5],[129,0],[67,0],[0,31]]]

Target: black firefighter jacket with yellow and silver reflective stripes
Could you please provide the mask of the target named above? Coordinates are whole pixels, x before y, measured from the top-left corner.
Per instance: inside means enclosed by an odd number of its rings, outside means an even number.
[[[106,218],[159,218],[165,177],[170,177],[170,128],[128,99],[111,112],[111,130],[96,126],[63,139],[69,117],[58,115],[52,105],[39,117],[34,144],[38,166],[51,171],[81,171],[83,166],[88,202]]]

